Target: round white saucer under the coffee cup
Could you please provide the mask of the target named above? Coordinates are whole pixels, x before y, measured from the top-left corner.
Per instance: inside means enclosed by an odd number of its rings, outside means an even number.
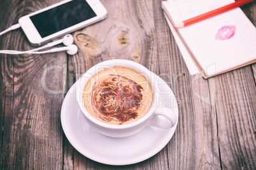
[[[157,76],[157,75],[155,75]],[[174,107],[178,117],[178,105],[173,91],[157,76],[160,99],[166,107]],[[146,126],[145,129],[126,138],[111,138],[90,128],[76,103],[75,89],[69,89],[61,108],[61,124],[69,142],[89,159],[110,165],[127,165],[146,160],[157,154],[171,140],[176,124],[171,129]]]

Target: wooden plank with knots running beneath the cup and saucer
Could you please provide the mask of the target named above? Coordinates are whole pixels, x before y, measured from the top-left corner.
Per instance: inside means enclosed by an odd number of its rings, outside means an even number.
[[[102,1],[108,10],[106,20],[75,32],[79,54],[69,58],[70,71],[77,79],[96,63],[113,58],[133,60],[159,74],[157,42],[152,1]],[[69,75],[69,74],[68,74]],[[70,79],[69,79],[70,80]],[[71,81],[72,84],[72,81]],[[70,88],[70,86],[69,86]],[[67,140],[64,141],[68,143]],[[66,145],[66,144],[65,144]],[[68,144],[70,145],[70,144]],[[75,149],[65,152],[65,169],[167,169],[167,150],[130,166],[106,166],[87,159]],[[72,156],[71,156],[72,155]],[[65,161],[66,159],[64,159]]]

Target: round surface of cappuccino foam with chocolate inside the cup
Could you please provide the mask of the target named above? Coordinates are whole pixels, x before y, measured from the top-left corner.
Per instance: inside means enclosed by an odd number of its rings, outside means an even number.
[[[153,91],[146,78],[132,69],[112,67],[92,76],[83,103],[97,120],[128,124],[143,117],[152,105]]]

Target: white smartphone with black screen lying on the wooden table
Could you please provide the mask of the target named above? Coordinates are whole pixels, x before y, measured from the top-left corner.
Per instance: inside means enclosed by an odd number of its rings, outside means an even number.
[[[99,0],[65,0],[29,15],[18,23],[34,46],[99,22],[107,11]]]

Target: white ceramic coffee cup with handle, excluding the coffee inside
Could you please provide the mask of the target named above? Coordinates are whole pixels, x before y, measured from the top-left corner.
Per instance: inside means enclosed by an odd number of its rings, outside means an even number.
[[[92,115],[90,115],[83,103],[83,90],[87,82],[90,80],[90,77],[97,74],[97,72],[100,72],[101,70],[117,66],[126,67],[128,69],[139,72],[139,74],[144,75],[144,77],[148,80],[153,89],[153,103],[148,112],[137,121],[120,125],[107,124],[97,120]],[[154,79],[154,77],[154,74],[150,72],[150,70],[146,69],[146,67],[130,60],[117,59],[101,62],[90,68],[78,80],[78,88],[76,89],[76,100],[80,107],[80,110],[82,111],[89,125],[92,128],[96,129],[96,131],[98,131],[99,133],[102,133],[106,136],[111,136],[115,138],[131,136],[132,134],[138,133],[146,126],[155,126],[162,129],[173,128],[174,124],[176,124],[177,122],[177,116],[174,113],[174,108],[173,110],[171,110],[167,107],[157,107],[157,105],[154,104],[154,102],[157,101],[157,98],[159,98],[159,89],[157,88],[157,81]],[[161,119],[159,119],[159,116],[161,117]],[[164,120],[162,119],[162,117],[164,117]]]

